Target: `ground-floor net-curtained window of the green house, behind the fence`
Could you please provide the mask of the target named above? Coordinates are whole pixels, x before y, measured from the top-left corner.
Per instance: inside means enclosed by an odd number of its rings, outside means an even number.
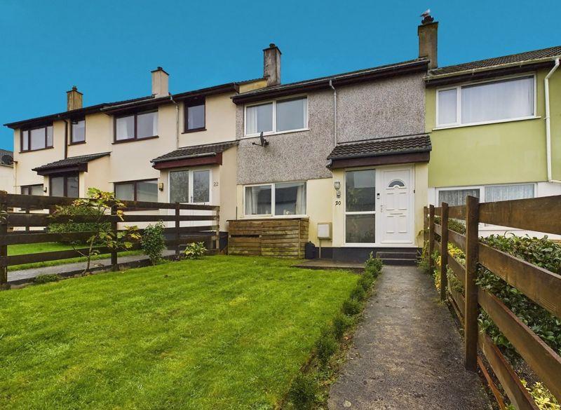
[[[509,184],[470,186],[459,189],[438,189],[438,205],[445,202],[450,206],[466,205],[466,196],[475,196],[480,202],[514,200],[535,197],[534,184]]]

